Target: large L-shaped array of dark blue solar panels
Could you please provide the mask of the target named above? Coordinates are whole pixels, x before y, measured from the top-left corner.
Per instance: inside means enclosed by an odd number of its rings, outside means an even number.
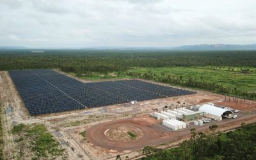
[[[139,80],[82,83],[54,70],[9,74],[33,116],[195,93]]]

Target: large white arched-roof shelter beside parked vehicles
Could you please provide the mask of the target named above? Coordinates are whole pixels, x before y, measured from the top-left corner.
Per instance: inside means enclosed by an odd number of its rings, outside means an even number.
[[[222,117],[231,118],[233,113],[230,110],[218,108],[209,104],[203,104],[199,111],[204,111],[204,115],[208,118],[216,118],[216,120],[222,120]]]

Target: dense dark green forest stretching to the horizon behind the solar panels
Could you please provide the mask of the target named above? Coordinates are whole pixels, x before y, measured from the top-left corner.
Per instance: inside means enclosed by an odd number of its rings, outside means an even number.
[[[0,51],[0,70],[61,68],[65,72],[125,71],[129,67],[256,67],[256,51],[67,50]]]

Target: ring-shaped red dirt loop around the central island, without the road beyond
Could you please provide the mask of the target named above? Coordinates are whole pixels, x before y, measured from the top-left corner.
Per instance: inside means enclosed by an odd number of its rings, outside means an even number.
[[[107,136],[105,136],[104,132],[106,130],[114,129],[120,125],[131,125],[133,127],[137,127],[143,132],[143,137],[138,140],[124,142],[110,140]],[[147,122],[134,120],[132,118],[93,125],[87,130],[88,140],[91,141],[94,145],[118,151],[140,149],[146,145],[164,143],[166,140],[164,140],[165,138],[163,137],[167,136],[170,140],[171,134],[173,133],[158,127],[156,124],[150,125],[147,124]],[[163,141],[161,142],[159,139],[162,139]]]

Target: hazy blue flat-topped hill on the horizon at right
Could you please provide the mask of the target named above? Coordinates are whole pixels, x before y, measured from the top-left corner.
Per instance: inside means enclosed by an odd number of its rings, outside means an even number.
[[[200,45],[182,45],[174,47],[173,50],[184,51],[221,51],[221,50],[256,50],[256,44],[232,45],[232,44],[200,44]]]

